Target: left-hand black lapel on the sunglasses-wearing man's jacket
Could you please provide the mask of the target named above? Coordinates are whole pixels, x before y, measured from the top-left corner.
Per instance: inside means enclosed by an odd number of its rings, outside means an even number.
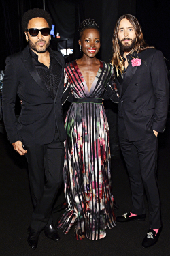
[[[46,85],[44,85],[44,83],[41,81],[37,70],[35,70],[35,66],[31,59],[31,55],[29,54],[29,46],[27,46],[23,50],[22,62],[24,63],[24,66],[27,68],[29,74],[31,74],[31,76],[33,77],[35,82],[41,87],[41,89],[43,89],[47,94],[50,94],[50,91],[48,91]]]

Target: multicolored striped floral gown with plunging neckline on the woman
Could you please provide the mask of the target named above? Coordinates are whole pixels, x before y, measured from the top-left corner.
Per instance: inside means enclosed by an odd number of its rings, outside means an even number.
[[[104,238],[106,229],[116,225],[111,191],[109,127],[99,100],[112,77],[112,66],[100,63],[90,91],[76,61],[68,63],[65,68],[65,92],[71,89],[75,99],[65,120],[67,140],[63,172],[68,206],[58,228],[67,233],[76,225],[75,238],[78,240],[85,236],[90,240]],[[112,92],[114,97],[115,91]]]

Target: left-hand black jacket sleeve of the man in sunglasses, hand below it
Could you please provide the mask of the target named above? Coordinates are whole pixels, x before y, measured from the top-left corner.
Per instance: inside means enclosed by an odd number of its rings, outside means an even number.
[[[14,64],[12,63],[12,59],[10,59],[10,57],[7,57],[5,76],[3,79],[2,106],[3,121],[10,143],[14,143],[20,140],[16,128],[18,122],[15,115],[15,103],[18,85],[19,81],[14,71]]]

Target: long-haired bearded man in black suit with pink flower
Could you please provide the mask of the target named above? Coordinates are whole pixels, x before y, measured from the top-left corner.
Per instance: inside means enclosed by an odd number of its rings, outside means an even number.
[[[144,190],[148,199],[150,229],[142,246],[158,241],[162,223],[156,183],[158,132],[167,119],[169,83],[163,53],[143,40],[135,16],[121,16],[114,29],[112,64],[120,95],[118,132],[132,192],[130,212],[116,221],[144,220]]]

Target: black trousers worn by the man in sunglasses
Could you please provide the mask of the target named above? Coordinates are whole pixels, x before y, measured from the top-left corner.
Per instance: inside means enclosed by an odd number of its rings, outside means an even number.
[[[48,145],[24,145],[33,201],[31,227],[41,231],[52,223],[52,206],[63,181],[64,145],[58,133]]]

